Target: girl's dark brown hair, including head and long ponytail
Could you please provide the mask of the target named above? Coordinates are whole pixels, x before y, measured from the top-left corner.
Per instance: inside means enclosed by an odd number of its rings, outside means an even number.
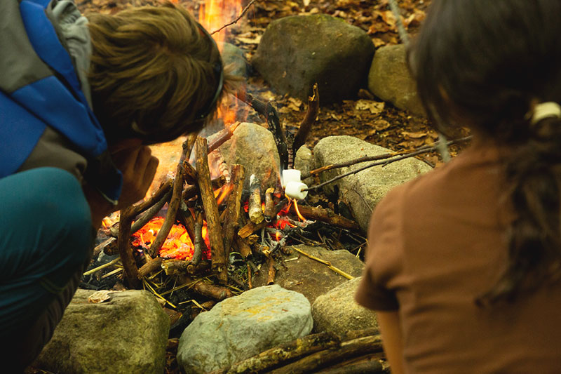
[[[560,14],[558,0],[433,0],[408,54],[440,131],[466,125],[508,149],[508,264],[479,303],[561,275],[561,120],[530,123],[533,103],[561,102]]]

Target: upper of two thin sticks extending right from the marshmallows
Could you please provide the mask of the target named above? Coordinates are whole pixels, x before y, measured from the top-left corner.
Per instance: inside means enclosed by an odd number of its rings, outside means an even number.
[[[471,139],[472,139],[471,136],[466,136],[464,138],[450,140],[449,142],[446,143],[446,145],[449,147],[450,145],[454,145],[454,144],[457,144],[457,143],[468,142]],[[384,162],[371,163],[370,165],[367,165],[367,167],[365,167],[365,168],[371,168],[372,166],[377,166],[377,165],[385,165],[386,163],[392,163],[392,162],[395,162],[395,161],[400,161],[400,160],[403,160],[403,159],[407,159],[409,157],[419,156],[419,154],[424,154],[424,153],[427,153],[427,152],[436,151],[436,150],[438,150],[438,147],[439,147],[439,142],[435,142],[433,145],[423,145],[421,147],[418,147],[418,148],[415,148],[415,149],[412,149],[412,150],[378,154],[377,156],[363,156],[363,157],[360,157],[358,159],[354,159],[354,160],[351,160],[351,161],[346,161],[346,162],[342,162],[342,163],[334,163],[334,164],[331,164],[331,165],[325,165],[321,168],[317,168],[313,171],[310,171],[309,173],[302,174],[302,179],[309,178],[309,177],[311,177],[311,175],[316,175],[316,174],[319,174],[319,173],[323,173],[324,171],[330,171],[330,170],[337,169],[337,168],[346,168],[347,166],[353,166],[353,165],[356,165],[357,163],[391,159],[391,160],[384,161]],[[393,157],[396,157],[396,159],[392,159]],[[360,169],[359,171],[364,170],[365,168]],[[356,171],[356,172],[358,172],[358,171]],[[339,175],[339,177],[341,177],[341,175]]]

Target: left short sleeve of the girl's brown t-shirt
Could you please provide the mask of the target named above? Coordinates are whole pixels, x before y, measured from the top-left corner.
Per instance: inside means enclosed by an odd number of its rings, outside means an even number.
[[[399,308],[397,279],[402,270],[401,209],[403,186],[393,189],[374,209],[368,229],[365,269],[355,300],[373,310]]]

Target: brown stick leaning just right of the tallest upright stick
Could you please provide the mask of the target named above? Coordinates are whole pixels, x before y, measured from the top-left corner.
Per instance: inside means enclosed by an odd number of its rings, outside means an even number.
[[[231,193],[226,206],[226,216],[224,217],[224,257],[228,258],[230,248],[238,228],[238,218],[241,208],[241,194],[243,190],[243,180],[245,170],[243,165],[232,166]]]

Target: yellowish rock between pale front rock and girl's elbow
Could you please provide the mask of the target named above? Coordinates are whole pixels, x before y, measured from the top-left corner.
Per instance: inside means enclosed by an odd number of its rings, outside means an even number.
[[[311,306],[313,330],[342,336],[350,330],[377,328],[376,313],[354,300],[360,277],[337,286],[319,296]]]

